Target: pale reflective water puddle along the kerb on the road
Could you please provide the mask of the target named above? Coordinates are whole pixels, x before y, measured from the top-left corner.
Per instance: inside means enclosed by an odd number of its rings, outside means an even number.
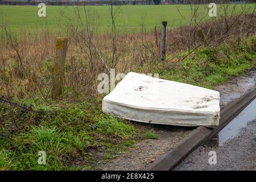
[[[228,139],[236,137],[240,129],[246,127],[247,123],[254,119],[256,119],[256,99],[247,105],[220,133],[209,139],[207,146],[222,146]]]

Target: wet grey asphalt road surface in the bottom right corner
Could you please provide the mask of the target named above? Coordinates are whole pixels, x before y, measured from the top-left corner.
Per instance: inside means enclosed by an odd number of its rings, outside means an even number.
[[[216,151],[216,165],[208,162],[210,151]],[[197,148],[174,170],[256,170],[256,119],[221,146]]]

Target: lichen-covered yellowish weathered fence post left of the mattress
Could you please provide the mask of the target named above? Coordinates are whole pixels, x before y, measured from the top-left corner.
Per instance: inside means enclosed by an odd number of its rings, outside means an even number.
[[[53,87],[51,94],[53,100],[60,97],[63,93],[67,44],[66,38],[57,38],[56,55],[53,63]]]

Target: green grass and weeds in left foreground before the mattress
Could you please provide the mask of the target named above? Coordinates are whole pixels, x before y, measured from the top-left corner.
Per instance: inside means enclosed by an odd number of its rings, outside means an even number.
[[[90,169],[98,160],[93,151],[109,159],[140,133],[130,122],[102,114],[97,100],[63,107],[43,105],[40,99],[20,102],[33,103],[36,112],[0,107],[0,169]],[[39,151],[46,152],[46,165],[38,164]]]

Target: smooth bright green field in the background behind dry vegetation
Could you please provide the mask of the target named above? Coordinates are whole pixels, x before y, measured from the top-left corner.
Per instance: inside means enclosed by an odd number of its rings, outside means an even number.
[[[242,7],[253,10],[255,4],[230,5],[236,6],[236,11],[241,11]],[[82,7],[79,7],[82,9]],[[114,6],[116,9],[117,6]],[[111,27],[109,6],[86,6],[91,13],[94,11],[97,15],[98,30],[108,31]],[[179,9],[179,11],[177,10]],[[61,15],[72,17],[72,6],[46,6],[46,17],[38,16],[39,8],[37,6],[0,6],[0,22],[7,24],[11,30],[20,28],[36,31],[47,24],[49,30],[63,30],[68,20]],[[221,8],[217,6],[217,17],[221,15]],[[208,5],[200,5],[199,15],[209,19]],[[185,20],[185,19],[187,20]],[[191,18],[191,9],[189,5],[137,5],[121,6],[117,12],[116,27],[118,30],[139,30],[142,22],[147,28],[159,26],[162,20],[167,20],[167,27],[180,26],[187,24]],[[198,18],[198,20],[200,17]]]

